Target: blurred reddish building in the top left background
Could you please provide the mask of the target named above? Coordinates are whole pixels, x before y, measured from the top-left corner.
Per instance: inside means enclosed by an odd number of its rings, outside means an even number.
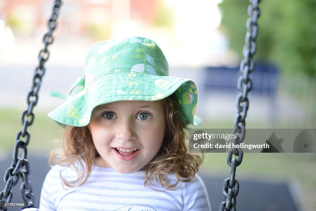
[[[161,0],[65,0],[59,17],[63,35],[111,37],[122,21],[151,22]],[[32,36],[52,14],[54,0],[0,0],[0,19],[15,35]]]

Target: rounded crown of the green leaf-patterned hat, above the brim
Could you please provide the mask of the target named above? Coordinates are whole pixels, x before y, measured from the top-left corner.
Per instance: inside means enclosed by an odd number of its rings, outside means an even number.
[[[110,39],[98,42],[88,50],[85,59],[86,85],[103,75],[121,71],[169,75],[168,63],[160,47],[147,38]]]

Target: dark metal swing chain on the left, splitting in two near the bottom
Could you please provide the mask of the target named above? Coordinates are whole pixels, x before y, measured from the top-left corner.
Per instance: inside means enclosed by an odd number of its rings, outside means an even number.
[[[20,121],[23,125],[22,130],[20,130],[15,138],[15,147],[13,151],[13,162],[11,166],[7,169],[4,174],[3,181],[5,183],[4,190],[0,192],[0,203],[10,203],[13,198],[13,192],[11,190],[16,184],[18,184],[19,179],[22,179],[21,184],[21,194],[24,202],[29,206],[37,206],[35,196],[33,194],[33,187],[31,181],[29,181],[28,175],[30,174],[30,164],[27,161],[27,145],[30,141],[30,133],[27,131],[27,127],[33,124],[34,114],[33,107],[37,104],[38,92],[42,83],[42,77],[45,74],[46,68],[45,63],[49,58],[49,51],[47,49],[48,45],[52,44],[53,37],[52,32],[57,26],[56,19],[58,17],[59,8],[61,6],[61,0],[55,0],[53,13],[48,21],[48,32],[43,37],[43,42],[45,44],[44,49],[39,53],[39,65],[34,71],[33,85],[31,90],[27,94],[27,104],[28,107],[22,112]],[[25,138],[25,141],[21,139]],[[22,149],[22,157],[19,157],[19,149]],[[22,169],[25,167],[25,169]],[[3,200],[3,199],[6,199]],[[7,210],[7,207],[0,207],[2,210]]]

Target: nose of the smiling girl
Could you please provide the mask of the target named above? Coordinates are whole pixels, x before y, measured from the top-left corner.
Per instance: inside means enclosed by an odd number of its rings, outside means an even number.
[[[115,136],[123,141],[131,141],[137,138],[133,124],[128,120],[121,120],[119,122]]]

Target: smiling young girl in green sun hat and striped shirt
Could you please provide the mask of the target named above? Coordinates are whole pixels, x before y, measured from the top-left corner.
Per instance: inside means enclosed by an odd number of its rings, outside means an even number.
[[[65,127],[64,151],[52,156],[58,165],[46,176],[40,210],[210,210],[197,176],[202,160],[185,146],[196,85],[168,76],[154,41],[96,43],[71,91],[77,86],[48,114]]]

